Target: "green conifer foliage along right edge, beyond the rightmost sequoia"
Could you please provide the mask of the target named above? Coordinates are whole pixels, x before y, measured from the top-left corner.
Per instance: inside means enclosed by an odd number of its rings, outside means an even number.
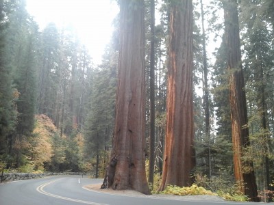
[[[248,7],[247,7],[248,3]],[[273,18],[269,9],[273,5],[266,1],[243,1],[242,45],[244,46],[247,81],[247,102],[249,107],[249,127],[251,146],[244,153],[245,161],[253,161],[257,174],[258,189],[269,191],[264,195],[266,201],[273,187]],[[249,171],[250,167],[244,167]],[[268,199],[267,199],[268,200]]]

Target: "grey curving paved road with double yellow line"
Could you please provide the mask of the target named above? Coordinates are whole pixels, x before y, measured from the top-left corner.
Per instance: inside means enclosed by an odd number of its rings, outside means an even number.
[[[83,189],[87,184],[98,184],[102,180],[81,178],[81,176],[49,177],[36,180],[21,180],[0,184],[1,205],[46,205],[46,204],[93,204],[93,205],[134,205],[134,204],[184,204],[223,205],[256,204],[234,202],[188,202],[151,196],[112,195]],[[262,203],[260,203],[262,204]]]

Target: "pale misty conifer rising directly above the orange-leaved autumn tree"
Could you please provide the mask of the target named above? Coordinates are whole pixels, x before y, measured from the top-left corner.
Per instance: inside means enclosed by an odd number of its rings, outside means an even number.
[[[61,70],[59,66],[60,34],[55,24],[49,23],[41,33],[40,56],[38,64],[38,113],[53,118],[54,105],[58,97],[58,84]]]

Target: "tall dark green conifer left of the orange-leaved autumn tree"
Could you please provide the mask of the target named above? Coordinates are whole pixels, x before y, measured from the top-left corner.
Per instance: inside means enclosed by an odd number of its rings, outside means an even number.
[[[18,119],[16,130],[10,135],[9,154],[16,167],[24,165],[27,138],[34,128],[36,103],[36,60],[38,49],[38,26],[25,10],[25,1],[17,1],[10,16],[7,31],[14,33],[7,38],[8,61],[12,69],[14,87],[18,90]],[[9,163],[10,167],[12,163]]]

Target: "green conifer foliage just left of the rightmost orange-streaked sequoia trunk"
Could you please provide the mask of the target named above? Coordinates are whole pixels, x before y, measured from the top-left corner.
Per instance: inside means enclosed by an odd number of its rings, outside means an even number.
[[[228,74],[226,70],[225,44],[221,44],[216,53],[214,71],[212,72],[212,94],[216,115],[216,139],[214,143],[214,160],[216,172],[233,174],[232,131],[230,121]]]

